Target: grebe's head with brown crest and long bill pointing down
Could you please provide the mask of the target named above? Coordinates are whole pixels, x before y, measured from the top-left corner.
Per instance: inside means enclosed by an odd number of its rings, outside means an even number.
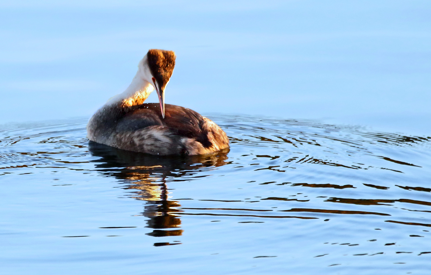
[[[175,53],[170,50],[148,50],[147,59],[142,59],[139,69],[143,72],[143,78],[153,84],[157,92],[162,117],[165,118],[165,88],[169,83],[175,67]]]

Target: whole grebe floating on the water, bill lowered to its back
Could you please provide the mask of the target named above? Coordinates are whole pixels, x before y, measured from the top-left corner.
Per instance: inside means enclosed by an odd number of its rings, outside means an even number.
[[[149,50],[129,87],[112,97],[91,117],[91,141],[153,155],[201,155],[229,147],[226,133],[197,112],[165,105],[165,88],[175,66],[175,53]],[[154,89],[159,103],[145,103]]]

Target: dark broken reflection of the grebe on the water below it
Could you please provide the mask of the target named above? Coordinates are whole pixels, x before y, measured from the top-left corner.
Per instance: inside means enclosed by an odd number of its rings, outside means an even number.
[[[144,200],[143,216],[149,218],[147,227],[154,228],[147,235],[154,237],[180,236],[182,230],[161,230],[181,227],[181,219],[176,213],[181,206],[178,201],[169,200],[167,183],[186,181],[190,176],[213,167],[227,164],[227,150],[208,155],[197,156],[153,156],[110,147],[96,142],[89,142],[97,171],[115,177],[127,184],[125,190],[131,190],[131,197]],[[133,191],[132,191],[133,190]]]

